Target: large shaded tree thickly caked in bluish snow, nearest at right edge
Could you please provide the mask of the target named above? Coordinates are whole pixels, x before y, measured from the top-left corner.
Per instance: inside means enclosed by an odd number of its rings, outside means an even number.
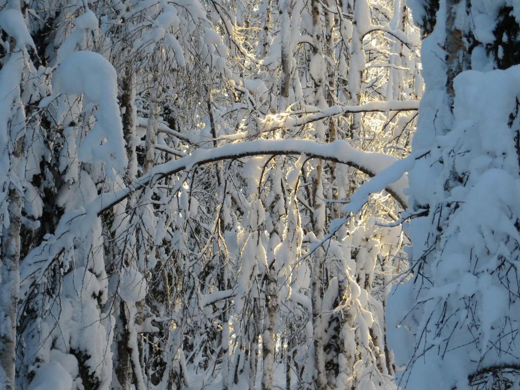
[[[409,174],[413,275],[387,309],[399,383],[517,388],[520,6],[411,5],[426,92]]]

